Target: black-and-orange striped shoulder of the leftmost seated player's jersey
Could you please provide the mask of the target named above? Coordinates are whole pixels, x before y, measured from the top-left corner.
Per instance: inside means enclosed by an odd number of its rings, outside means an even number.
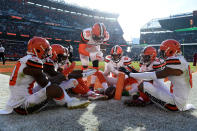
[[[43,63],[42,61],[37,58],[37,57],[31,57],[27,60],[27,63],[26,63],[28,66],[31,66],[31,67],[34,67],[34,68],[40,68],[42,69],[43,68]]]

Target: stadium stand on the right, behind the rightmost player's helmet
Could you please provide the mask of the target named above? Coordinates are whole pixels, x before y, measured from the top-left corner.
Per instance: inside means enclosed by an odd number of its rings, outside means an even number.
[[[157,48],[166,39],[179,41],[183,55],[192,61],[197,51],[197,11],[153,19],[140,29],[141,44]]]

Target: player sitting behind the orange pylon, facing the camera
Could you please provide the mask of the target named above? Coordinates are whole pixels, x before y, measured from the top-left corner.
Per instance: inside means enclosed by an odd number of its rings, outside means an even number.
[[[119,45],[112,47],[110,55],[105,57],[105,70],[103,72],[105,79],[109,86],[103,86],[104,93],[112,98],[115,94],[115,89],[117,85],[118,77],[120,71],[119,68],[127,67],[131,64],[131,59],[127,56],[123,56],[123,50]],[[134,69],[133,69],[134,70]],[[129,94],[137,91],[138,82],[133,78],[125,78],[124,87],[130,86],[132,88],[128,89]]]

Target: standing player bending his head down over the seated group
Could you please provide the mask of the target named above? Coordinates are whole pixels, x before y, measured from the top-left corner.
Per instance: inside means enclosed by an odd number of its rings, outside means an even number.
[[[99,61],[104,59],[100,45],[105,44],[108,40],[109,33],[103,23],[95,23],[92,28],[86,28],[82,31],[78,49],[82,70],[88,69],[89,59],[92,61],[93,68],[98,70]],[[91,88],[94,87],[95,80],[96,74],[91,78]]]

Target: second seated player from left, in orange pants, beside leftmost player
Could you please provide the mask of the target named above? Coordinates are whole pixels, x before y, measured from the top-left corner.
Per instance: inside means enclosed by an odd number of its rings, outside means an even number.
[[[44,64],[44,71],[50,76],[51,80],[55,82],[60,81],[60,87],[72,88],[72,91],[76,94],[81,94],[82,96],[87,96],[89,100],[101,100],[106,99],[105,95],[97,94],[94,91],[91,91],[87,84],[84,82],[82,77],[87,77],[91,74],[94,74],[96,70],[74,70],[75,62],[72,62],[69,65],[68,62],[68,50],[61,45],[54,44],[52,47],[52,57],[47,59],[47,62]],[[65,50],[65,51],[64,51]],[[64,70],[61,66],[64,66]],[[59,71],[60,72],[59,72]],[[65,77],[68,77],[68,81],[62,81]]]

